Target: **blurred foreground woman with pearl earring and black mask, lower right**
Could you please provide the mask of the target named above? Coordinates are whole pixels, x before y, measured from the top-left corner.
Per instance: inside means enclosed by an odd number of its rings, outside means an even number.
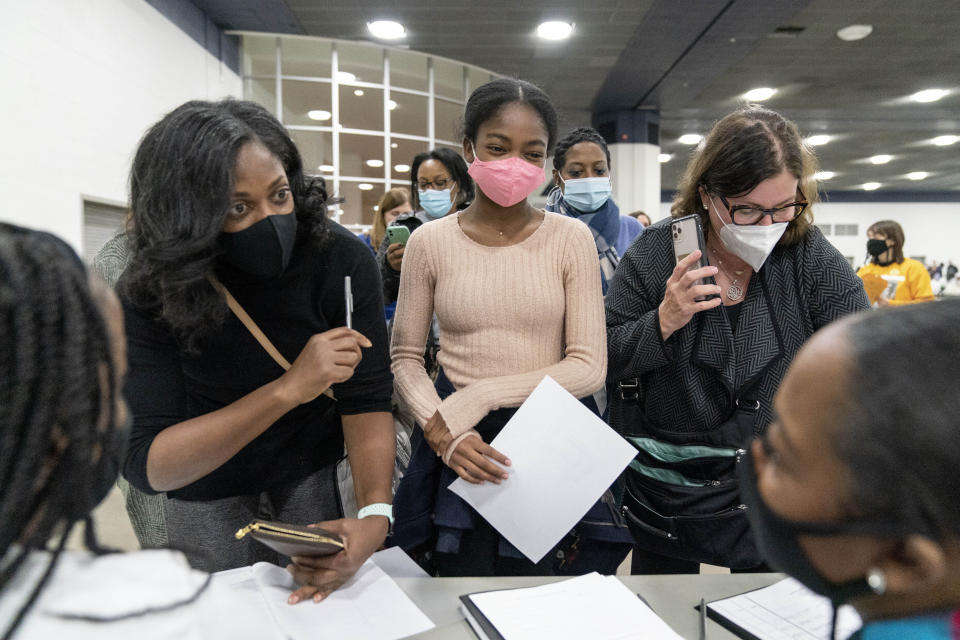
[[[958,317],[951,300],[830,325],[744,459],[767,562],[856,607],[863,640],[960,638]]]

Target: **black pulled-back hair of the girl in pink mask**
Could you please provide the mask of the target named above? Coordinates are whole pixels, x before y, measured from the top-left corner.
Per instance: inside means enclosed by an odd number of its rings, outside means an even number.
[[[517,78],[497,78],[473,90],[463,110],[464,137],[476,142],[480,125],[514,102],[529,105],[540,115],[547,130],[547,154],[552,153],[557,142],[557,110],[540,87]]]

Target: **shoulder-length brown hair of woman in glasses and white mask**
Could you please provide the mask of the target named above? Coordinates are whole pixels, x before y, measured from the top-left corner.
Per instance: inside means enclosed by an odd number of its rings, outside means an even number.
[[[817,159],[793,122],[776,111],[745,106],[713,125],[697,147],[677,187],[670,213],[677,218],[696,213],[704,231],[709,231],[710,215],[703,207],[700,187],[722,196],[740,196],[783,171],[800,181],[800,191],[810,203],[780,239],[779,244],[789,246],[799,242],[813,226],[813,204],[818,199],[813,178]]]

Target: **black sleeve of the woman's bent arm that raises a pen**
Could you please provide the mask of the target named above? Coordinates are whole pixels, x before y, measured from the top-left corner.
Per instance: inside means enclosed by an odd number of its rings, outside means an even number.
[[[158,433],[186,419],[180,352],[158,321],[122,303],[129,361],[124,396],[133,416],[123,476],[141,491],[158,493],[147,481],[147,454]]]

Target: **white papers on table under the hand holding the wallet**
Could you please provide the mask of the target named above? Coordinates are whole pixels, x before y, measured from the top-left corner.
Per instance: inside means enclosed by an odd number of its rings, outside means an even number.
[[[234,589],[244,606],[262,608],[292,640],[316,638],[318,629],[338,640],[397,640],[434,627],[372,560],[320,603],[287,604],[297,585],[286,569],[267,562],[214,574],[214,579]]]

